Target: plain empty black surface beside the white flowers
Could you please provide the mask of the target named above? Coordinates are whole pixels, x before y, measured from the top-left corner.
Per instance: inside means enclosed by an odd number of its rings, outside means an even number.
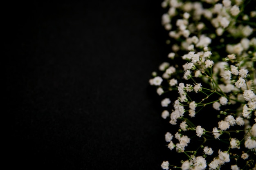
[[[161,169],[168,122],[148,85],[166,56],[161,2],[11,4],[9,169]]]

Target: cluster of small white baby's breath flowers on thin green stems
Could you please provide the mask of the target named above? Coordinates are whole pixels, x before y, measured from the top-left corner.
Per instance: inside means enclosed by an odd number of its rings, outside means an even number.
[[[173,125],[166,148],[181,159],[162,169],[256,170],[256,1],[164,0],[162,7],[169,61],[149,83]]]

